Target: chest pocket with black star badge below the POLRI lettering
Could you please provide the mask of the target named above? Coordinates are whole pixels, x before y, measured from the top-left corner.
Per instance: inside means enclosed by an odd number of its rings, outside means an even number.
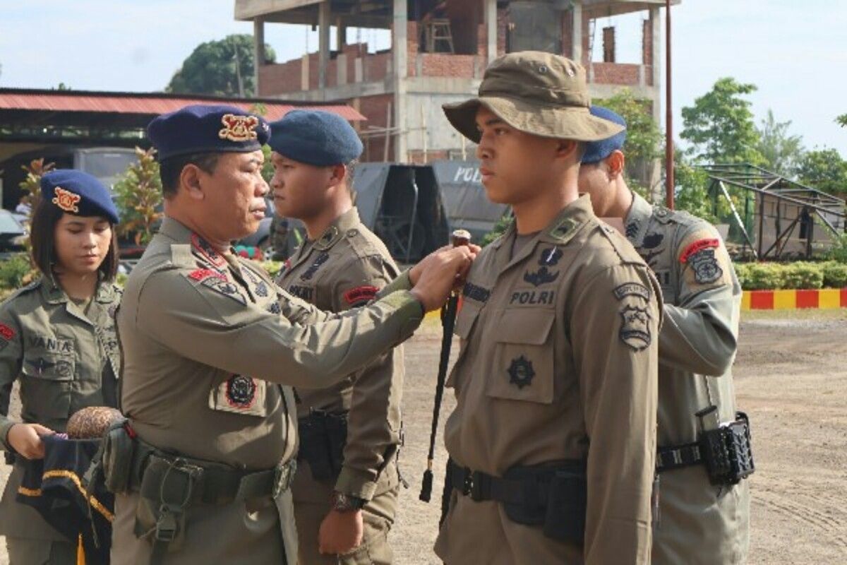
[[[556,312],[547,308],[507,308],[491,331],[494,355],[485,375],[486,394],[504,400],[550,404],[554,397]]]

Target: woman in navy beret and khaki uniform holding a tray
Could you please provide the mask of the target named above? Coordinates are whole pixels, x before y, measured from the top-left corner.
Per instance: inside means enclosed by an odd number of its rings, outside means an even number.
[[[99,180],[75,170],[45,174],[31,233],[42,276],[0,304],[0,447],[14,464],[0,501],[0,535],[10,565],[76,563],[76,543],[17,499],[38,494],[20,481],[24,460],[44,457],[42,435],[64,432],[80,408],[117,404],[117,223]],[[21,422],[8,418],[15,379]]]

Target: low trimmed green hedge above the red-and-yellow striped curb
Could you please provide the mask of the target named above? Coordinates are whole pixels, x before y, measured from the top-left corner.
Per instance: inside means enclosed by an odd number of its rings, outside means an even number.
[[[847,264],[826,263],[736,263],[741,288],[745,291],[776,289],[808,290],[847,287]]]

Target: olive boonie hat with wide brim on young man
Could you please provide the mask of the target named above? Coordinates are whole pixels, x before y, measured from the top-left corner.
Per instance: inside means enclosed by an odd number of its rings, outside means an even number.
[[[485,69],[479,97],[443,106],[453,127],[474,143],[479,143],[476,113],[480,105],[516,130],[534,136],[597,141],[623,130],[589,112],[585,69],[552,53],[521,51],[496,58]]]

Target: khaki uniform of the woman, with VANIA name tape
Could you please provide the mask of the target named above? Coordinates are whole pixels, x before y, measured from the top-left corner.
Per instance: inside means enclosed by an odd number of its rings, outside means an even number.
[[[71,414],[116,406],[120,351],[114,313],[120,290],[101,283],[87,311],[42,278],[0,305],[0,446],[8,445],[9,396],[20,380],[21,419],[64,432]],[[65,540],[32,507],[15,501],[24,468],[15,463],[0,501],[0,534]]]

